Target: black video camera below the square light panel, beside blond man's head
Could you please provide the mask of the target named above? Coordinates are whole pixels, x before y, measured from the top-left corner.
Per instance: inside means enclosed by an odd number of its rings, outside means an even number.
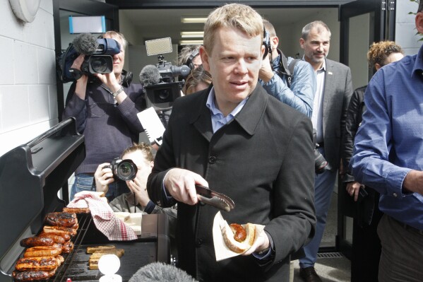
[[[181,96],[181,88],[184,81],[175,81],[181,76],[185,78],[191,72],[189,66],[172,66],[172,63],[165,61],[162,55],[157,56],[159,63],[156,68],[160,74],[160,81],[157,84],[145,86],[147,107],[155,110],[170,110],[176,98]]]

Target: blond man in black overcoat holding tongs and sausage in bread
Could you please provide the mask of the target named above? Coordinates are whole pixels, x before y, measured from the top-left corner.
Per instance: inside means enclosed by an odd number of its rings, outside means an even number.
[[[290,254],[314,235],[311,121],[257,83],[262,42],[251,7],[210,13],[200,54],[213,84],[175,100],[148,178],[150,199],[178,203],[178,266],[199,281],[288,281]],[[234,200],[228,223],[265,225],[250,249],[216,261],[218,210],[198,204],[195,184]]]

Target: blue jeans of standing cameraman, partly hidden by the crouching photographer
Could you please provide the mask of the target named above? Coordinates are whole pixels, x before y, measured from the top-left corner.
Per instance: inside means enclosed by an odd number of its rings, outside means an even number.
[[[75,182],[73,182],[71,188],[70,200],[72,201],[75,194],[82,191],[95,191],[95,181],[93,175],[87,175],[85,173],[78,173],[78,175],[75,175]],[[124,181],[117,181],[109,184],[109,190],[106,193],[106,197],[110,202],[117,196],[130,191],[131,190],[129,190]]]

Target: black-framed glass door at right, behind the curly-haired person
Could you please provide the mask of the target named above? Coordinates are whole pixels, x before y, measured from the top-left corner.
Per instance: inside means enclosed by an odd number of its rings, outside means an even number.
[[[340,8],[340,61],[350,66],[353,88],[366,86],[374,71],[367,51],[373,42],[395,40],[395,0],[357,0]],[[338,183],[338,249],[350,258],[352,218],[345,216],[345,192]]]

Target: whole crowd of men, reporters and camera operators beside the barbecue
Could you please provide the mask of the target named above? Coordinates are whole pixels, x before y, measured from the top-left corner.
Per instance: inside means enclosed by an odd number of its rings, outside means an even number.
[[[423,1],[420,33],[422,10]],[[290,261],[299,259],[299,275],[313,282],[322,281],[314,266],[339,177],[354,218],[352,281],[421,280],[423,49],[403,58],[395,42],[374,42],[367,59],[375,74],[353,90],[350,68],[327,58],[330,36],[321,20],[304,25],[304,55],[294,59],[254,8],[215,8],[203,45],[179,53],[191,72],[156,153],[138,140],[136,114],[146,104],[123,69],[127,42],[105,33],[121,47],[113,72],[83,74],[66,98],[63,117],[76,118],[86,148],[71,199],[99,191],[114,211],[167,213],[177,266],[198,281],[289,281]],[[326,170],[316,173],[314,151]],[[114,177],[109,165],[118,156],[136,165],[133,180]],[[264,226],[250,249],[216,261],[217,210],[198,204],[196,184],[234,200],[236,208],[221,211],[226,221]]]

